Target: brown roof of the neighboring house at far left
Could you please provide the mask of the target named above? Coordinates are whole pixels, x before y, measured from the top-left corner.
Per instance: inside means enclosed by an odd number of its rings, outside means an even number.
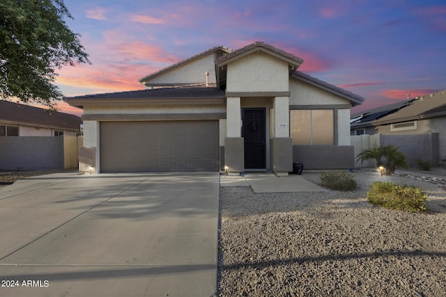
[[[79,131],[77,115],[0,100],[0,123]]]

